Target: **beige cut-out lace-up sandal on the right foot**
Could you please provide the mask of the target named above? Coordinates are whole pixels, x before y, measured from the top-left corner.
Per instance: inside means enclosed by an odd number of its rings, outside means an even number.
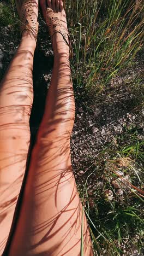
[[[49,33],[51,36],[51,40],[55,33],[61,33],[65,43],[69,46],[69,49],[70,49],[69,57],[72,57],[73,50],[72,50],[71,43],[70,43],[69,32],[68,32],[67,24],[66,24],[66,26],[64,26],[63,25],[64,23],[66,23],[66,22],[59,20],[57,17],[57,13],[55,13],[51,8],[46,9],[46,24],[49,27]]]

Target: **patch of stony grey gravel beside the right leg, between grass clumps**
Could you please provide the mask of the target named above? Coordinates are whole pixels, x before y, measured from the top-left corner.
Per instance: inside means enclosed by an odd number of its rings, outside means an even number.
[[[132,72],[137,72],[135,69]],[[128,71],[129,73],[129,71]],[[127,76],[125,75],[124,79]],[[130,79],[130,74],[128,74]],[[118,80],[118,82],[117,82]],[[97,103],[86,106],[88,96],[82,90],[81,100],[76,102],[76,118],[71,150],[73,155],[74,171],[85,170],[85,155],[96,155],[122,135],[126,127],[133,126],[137,131],[137,138],[143,139],[144,108],[135,106],[136,97],[131,90],[123,86],[123,79],[117,78],[113,84],[97,98]],[[144,89],[144,88],[143,88]],[[135,92],[134,92],[135,93]],[[91,108],[90,108],[91,107]],[[90,109],[89,109],[90,108]],[[124,143],[130,143],[129,138]],[[81,159],[79,159],[81,157]]]

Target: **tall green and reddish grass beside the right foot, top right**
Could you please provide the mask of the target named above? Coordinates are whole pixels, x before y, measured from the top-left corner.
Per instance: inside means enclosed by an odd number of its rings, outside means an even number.
[[[76,86],[105,84],[143,49],[143,0],[67,0]]]

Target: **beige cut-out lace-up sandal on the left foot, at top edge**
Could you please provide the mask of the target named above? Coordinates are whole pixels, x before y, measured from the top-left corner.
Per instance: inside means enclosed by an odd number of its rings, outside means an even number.
[[[38,3],[35,0],[15,0],[17,12],[20,16],[20,30],[21,34],[23,31],[28,31],[33,34],[37,42],[38,34],[38,17],[35,13],[35,8],[38,9]]]

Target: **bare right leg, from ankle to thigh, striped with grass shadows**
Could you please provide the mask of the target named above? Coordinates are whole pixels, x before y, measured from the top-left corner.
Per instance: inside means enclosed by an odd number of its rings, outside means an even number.
[[[75,103],[70,79],[69,47],[53,36],[55,63],[43,121],[32,152],[22,207],[10,256],[92,254],[87,220],[70,161]]]

